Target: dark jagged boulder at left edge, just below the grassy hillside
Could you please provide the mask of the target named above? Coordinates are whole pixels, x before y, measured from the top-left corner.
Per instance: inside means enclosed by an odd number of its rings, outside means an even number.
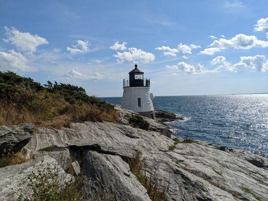
[[[0,156],[3,151],[20,151],[31,139],[34,132],[32,124],[18,126],[0,126]]]

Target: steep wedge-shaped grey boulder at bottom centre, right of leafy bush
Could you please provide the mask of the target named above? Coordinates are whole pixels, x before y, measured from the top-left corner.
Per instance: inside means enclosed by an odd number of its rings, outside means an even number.
[[[121,157],[96,151],[85,151],[83,156],[81,169],[87,178],[83,187],[88,193],[86,200],[151,200]]]

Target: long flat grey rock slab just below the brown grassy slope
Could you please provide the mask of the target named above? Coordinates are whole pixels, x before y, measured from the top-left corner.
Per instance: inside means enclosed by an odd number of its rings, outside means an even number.
[[[173,143],[157,132],[109,122],[85,122],[72,124],[72,129],[61,131],[41,127],[25,147],[35,154],[49,147],[77,146],[95,150],[91,147],[95,145],[106,153],[133,156],[137,150],[143,153],[166,150]]]

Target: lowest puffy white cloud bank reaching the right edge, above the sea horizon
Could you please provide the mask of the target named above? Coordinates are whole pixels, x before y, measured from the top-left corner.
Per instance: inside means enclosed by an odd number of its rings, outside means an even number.
[[[265,59],[264,55],[255,55],[255,56],[242,56],[240,61],[235,64],[231,64],[226,61],[226,58],[223,56],[218,56],[211,61],[212,65],[217,65],[214,68],[214,71],[228,70],[237,72],[243,69],[250,69],[254,72],[265,72],[268,71],[268,60]]]

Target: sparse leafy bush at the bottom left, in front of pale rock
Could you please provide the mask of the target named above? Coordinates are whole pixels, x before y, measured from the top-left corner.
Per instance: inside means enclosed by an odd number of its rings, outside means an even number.
[[[42,164],[41,164],[42,165]],[[59,171],[59,166],[49,165],[32,172],[19,189],[17,201],[79,201],[84,200],[81,187],[85,176],[80,174],[70,180]]]

